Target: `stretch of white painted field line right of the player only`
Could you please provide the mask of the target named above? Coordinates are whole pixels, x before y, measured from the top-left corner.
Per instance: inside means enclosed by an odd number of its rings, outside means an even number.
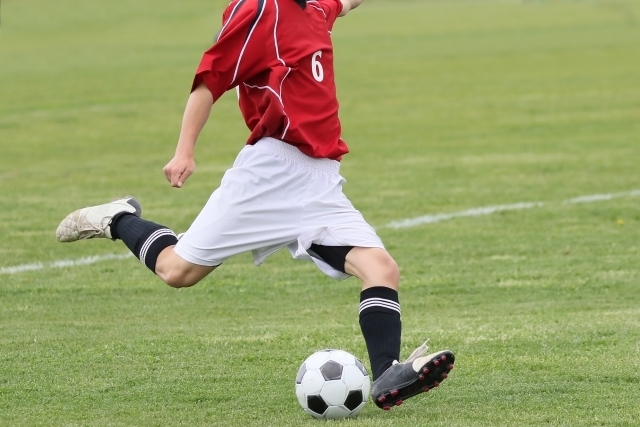
[[[625,191],[622,193],[592,194],[589,196],[580,196],[580,197],[575,197],[573,199],[567,199],[563,203],[569,203],[569,204],[592,203],[592,202],[599,202],[603,200],[617,199],[620,197],[635,197],[635,196],[640,196],[640,190]],[[523,203],[514,203],[512,205],[486,206],[482,208],[468,209],[465,211],[424,215],[416,218],[407,218],[407,219],[401,219],[398,221],[391,221],[385,227],[395,228],[395,229],[416,227],[422,224],[433,224],[436,222],[447,221],[453,218],[491,215],[496,212],[532,209],[540,206],[544,206],[544,203],[543,202],[523,202]]]

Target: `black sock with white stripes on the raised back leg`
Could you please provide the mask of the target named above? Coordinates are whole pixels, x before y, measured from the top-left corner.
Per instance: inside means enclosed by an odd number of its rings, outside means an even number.
[[[117,215],[109,227],[111,236],[114,239],[121,239],[129,250],[154,273],[160,252],[178,243],[175,233],[167,227],[133,214]]]

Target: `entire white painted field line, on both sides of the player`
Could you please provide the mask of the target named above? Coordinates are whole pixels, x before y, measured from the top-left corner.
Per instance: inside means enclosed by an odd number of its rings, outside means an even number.
[[[636,197],[636,196],[640,196],[640,190],[625,191],[622,193],[592,194],[590,196],[580,196],[580,197],[575,197],[573,199],[567,199],[563,203],[565,204],[592,203],[592,202],[616,199],[620,197]],[[480,208],[467,209],[459,212],[424,215],[417,218],[408,218],[408,219],[402,219],[399,221],[392,221],[388,223],[386,227],[395,228],[395,229],[408,228],[408,227],[415,227],[422,224],[433,224],[436,222],[447,221],[449,219],[454,219],[454,218],[491,215],[496,212],[532,209],[532,208],[537,208],[544,205],[545,203],[543,202],[523,202],[523,203],[514,203],[511,205],[486,206],[486,207],[480,207]],[[33,264],[22,264],[22,265],[16,265],[13,267],[0,267],[0,274],[17,274],[17,273],[23,273],[25,271],[44,270],[47,268],[77,267],[80,265],[95,264],[102,261],[121,260],[121,259],[130,258],[132,256],[133,254],[131,253],[107,254],[107,255],[96,255],[96,256],[77,258],[77,259],[51,261],[49,263],[37,262]]]

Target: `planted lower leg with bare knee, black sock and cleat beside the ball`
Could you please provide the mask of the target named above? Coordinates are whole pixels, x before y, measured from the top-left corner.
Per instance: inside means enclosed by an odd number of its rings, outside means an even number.
[[[391,255],[380,248],[353,248],[345,272],[362,280],[360,327],[367,343],[378,407],[389,410],[417,394],[438,387],[453,369],[455,357],[445,350],[428,354],[425,342],[407,360],[400,359],[400,272]]]

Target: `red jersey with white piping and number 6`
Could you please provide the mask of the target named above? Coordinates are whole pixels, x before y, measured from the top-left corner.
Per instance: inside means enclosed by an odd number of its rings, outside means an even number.
[[[247,144],[273,137],[311,157],[340,160],[331,30],[340,0],[233,0],[215,44],[200,62],[194,88],[204,82],[214,102],[237,87],[251,130]]]

